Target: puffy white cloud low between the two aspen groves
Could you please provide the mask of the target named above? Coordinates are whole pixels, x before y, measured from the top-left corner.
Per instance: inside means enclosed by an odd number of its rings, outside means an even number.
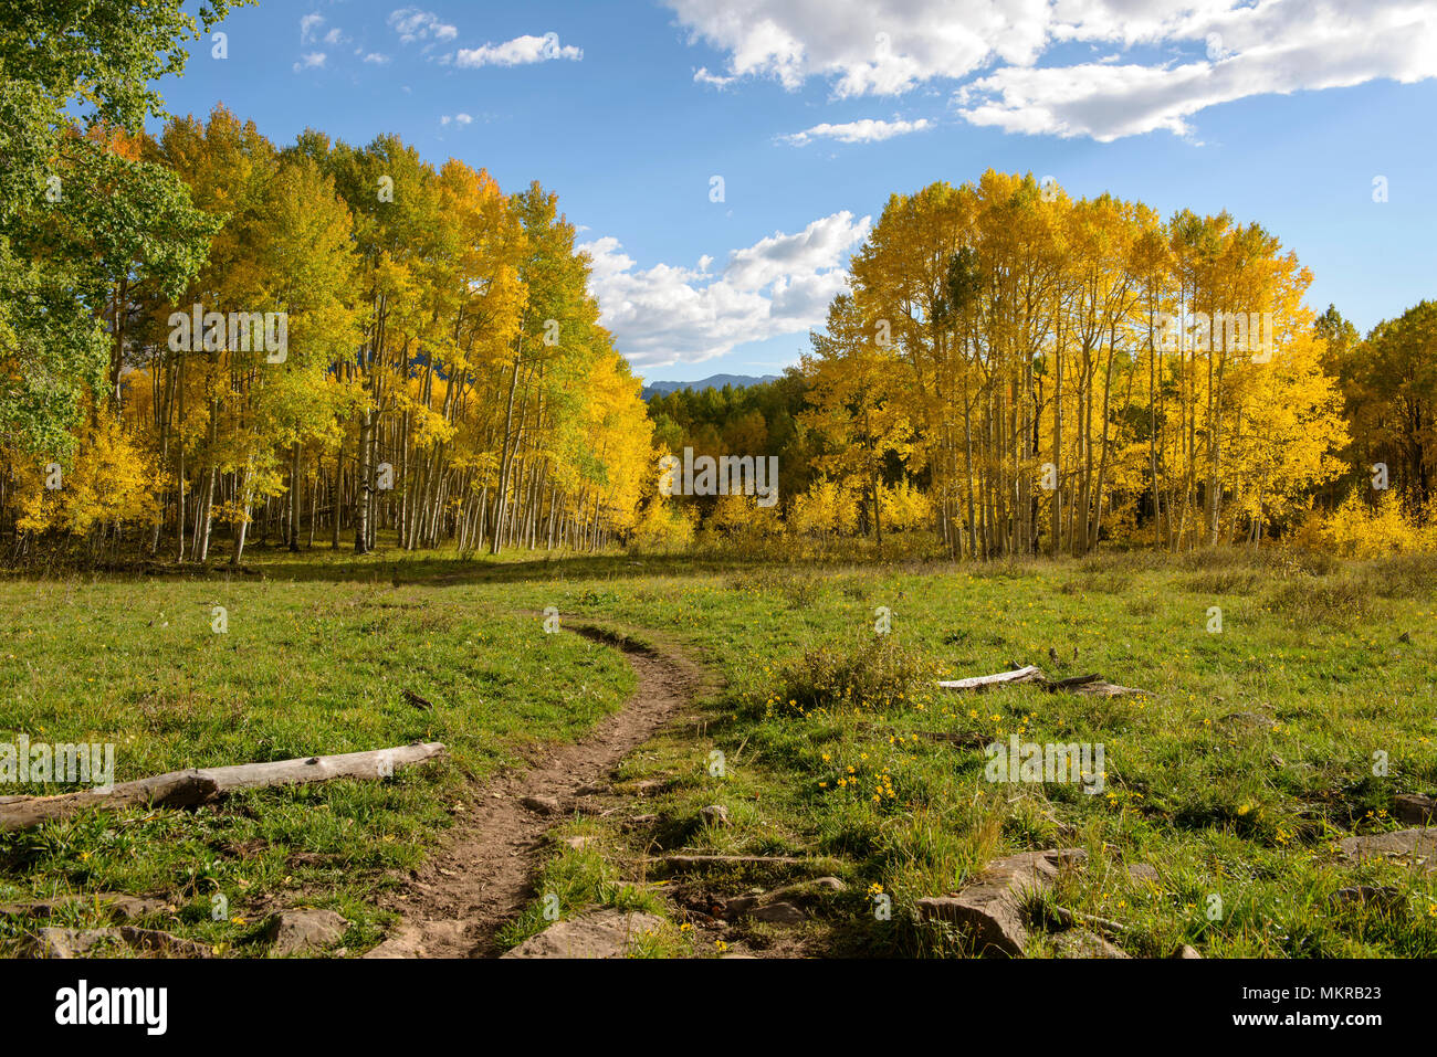
[[[593,260],[591,289],[618,349],[635,366],[664,366],[822,326],[829,302],[848,287],[848,256],[869,227],[869,217],[835,213],[734,250],[717,276],[707,254],[697,269],[635,269],[616,238],[579,248]]]

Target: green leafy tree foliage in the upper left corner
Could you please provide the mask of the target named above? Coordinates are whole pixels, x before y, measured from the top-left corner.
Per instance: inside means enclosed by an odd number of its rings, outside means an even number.
[[[181,73],[182,42],[231,6],[0,6],[0,445],[69,454],[69,428],[124,350],[112,284],[149,273],[177,290],[203,260],[208,231],[184,185],[114,149],[115,132],[162,113],[154,82]]]

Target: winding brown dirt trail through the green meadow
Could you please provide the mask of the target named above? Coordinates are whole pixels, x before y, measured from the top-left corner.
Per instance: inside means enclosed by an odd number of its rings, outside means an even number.
[[[569,816],[575,790],[605,778],[628,753],[690,704],[703,682],[691,663],[614,642],[593,628],[570,628],[615,645],[638,675],[624,708],[588,737],[555,750],[529,770],[509,771],[479,790],[474,804],[420,867],[402,899],[387,906],[404,922],[366,958],[493,958],[499,929],[533,898],[532,879],[545,833]],[[525,807],[553,797],[558,814]]]

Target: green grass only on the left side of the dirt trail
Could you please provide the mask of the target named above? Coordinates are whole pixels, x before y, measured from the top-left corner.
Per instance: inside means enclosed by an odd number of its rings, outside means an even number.
[[[3,834],[0,903],[160,893],[180,915],[175,932],[236,952],[262,949],[273,906],[332,906],[355,922],[351,945],[372,944],[375,886],[420,862],[473,781],[588,731],[634,688],[611,649],[545,635],[502,600],[395,589],[378,573],[0,582],[0,741],[114,742],[116,781],[411,741],[451,750],[385,783],[256,790],[223,810],[106,811]],[[434,708],[415,708],[405,689]],[[213,921],[216,893],[228,921]],[[95,921],[93,908],[73,908],[65,923]],[[0,915],[0,949],[33,923]]]

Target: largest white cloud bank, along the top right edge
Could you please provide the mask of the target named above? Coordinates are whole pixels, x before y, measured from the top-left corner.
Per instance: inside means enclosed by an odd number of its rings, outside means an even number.
[[[1190,135],[1191,115],[1234,99],[1437,76],[1430,0],[665,3],[694,42],[726,53],[727,69],[701,69],[700,83],[822,79],[851,98],[960,82],[963,118],[1012,132]],[[1104,57],[1063,65],[1055,49],[1071,43]]]

